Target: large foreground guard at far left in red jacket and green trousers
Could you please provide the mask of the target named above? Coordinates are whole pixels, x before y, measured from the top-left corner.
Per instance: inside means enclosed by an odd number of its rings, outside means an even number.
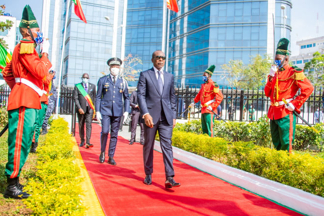
[[[30,194],[23,191],[24,186],[19,183],[19,176],[27,160],[41,109],[43,81],[52,79],[53,75],[48,72],[52,67],[48,59],[50,43],[43,42],[43,34],[29,5],[24,8],[19,30],[23,39],[15,47],[12,61],[2,73],[11,88],[8,98],[8,162],[5,166],[8,187],[3,196],[24,199]],[[40,58],[35,47],[41,43]]]

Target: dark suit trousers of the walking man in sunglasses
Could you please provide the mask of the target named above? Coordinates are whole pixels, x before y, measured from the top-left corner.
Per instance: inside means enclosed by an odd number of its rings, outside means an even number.
[[[144,124],[144,145],[143,161],[145,174],[153,173],[153,150],[157,131],[159,131],[160,145],[162,149],[165,177],[174,176],[173,151],[172,151],[172,130],[173,125],[169,125],[162,111],[157,124],[149,128]]]

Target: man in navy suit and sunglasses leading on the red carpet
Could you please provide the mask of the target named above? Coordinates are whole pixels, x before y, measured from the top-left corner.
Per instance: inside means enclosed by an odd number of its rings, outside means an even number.
[[[146,177],[144,184],[151,185],[153,173],[153,150],[157,131],[165,170],[165,188],[179,187],[175,182],[172,152],[172,130],[176,123],[176,100],[173,75],[164,71],[165,54],[155,51],[152,54],[153,68],[139,75],[137,99],[144,125],[143,161]]]

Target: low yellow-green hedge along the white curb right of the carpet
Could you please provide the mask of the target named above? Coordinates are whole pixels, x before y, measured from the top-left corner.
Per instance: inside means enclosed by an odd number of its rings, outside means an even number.
[[[309,153],[277,151],[253,142],[229,142],[219,137],[173,131],[172,144],[261,177],[324,197],[324,159]]]

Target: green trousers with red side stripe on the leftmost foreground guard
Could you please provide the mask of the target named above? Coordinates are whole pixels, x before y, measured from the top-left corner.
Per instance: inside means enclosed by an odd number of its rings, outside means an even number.
[[[27,160],[38,111],[26,107],[8,111],[8,162],[4,174],[9,178],[20,176]]]

